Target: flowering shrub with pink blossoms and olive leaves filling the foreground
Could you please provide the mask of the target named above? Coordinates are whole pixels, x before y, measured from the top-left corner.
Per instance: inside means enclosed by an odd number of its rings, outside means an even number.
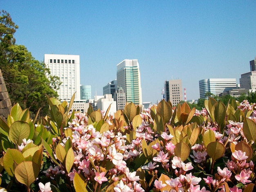
[[[32,121],[17,104],[0,119],[0,190],[255,190],[256,108],[246,100],[209,98],[201,111],[162,100],[140,112],[127,103],[110,116],[48,100],[51,117]]]

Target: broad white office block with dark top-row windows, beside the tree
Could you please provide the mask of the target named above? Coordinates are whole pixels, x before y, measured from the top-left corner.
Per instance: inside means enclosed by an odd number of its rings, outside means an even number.
[[[59,99],[69,100],[75,94],[80,100],[80,61],[79,55],[45,54],[44,62],[52,76],[58,76],[62,82],[57,90]]]

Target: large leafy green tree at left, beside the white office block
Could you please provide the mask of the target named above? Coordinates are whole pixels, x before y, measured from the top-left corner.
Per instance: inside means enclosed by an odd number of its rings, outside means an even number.
[[[57,97],[54,89],[61,82],[56,76],[49,76],[49,69],[36,60],[24,45],[16,45],[13,34],[18,26],[6,11],[0,12],[0,69],[12,104],[19,103],[25,109],[45,116],[49,111],[47,96]]]

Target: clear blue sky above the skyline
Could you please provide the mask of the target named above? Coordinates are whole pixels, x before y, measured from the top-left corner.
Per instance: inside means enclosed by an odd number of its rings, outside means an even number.
[[[16,43],[34,58],[80,55],[92,96],[138,59],[143,102],[162,99],[165,80],[182,79],[187,99],[199,80],[236,78],[256,56],[256,0],[0,0],[19,26]]]

